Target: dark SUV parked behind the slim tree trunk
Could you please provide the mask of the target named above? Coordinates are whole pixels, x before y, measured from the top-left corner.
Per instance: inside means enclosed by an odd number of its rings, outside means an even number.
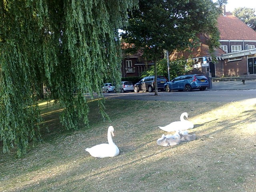
[[[164,84],[167,79],[164,76],[157,76],[157,88],[164,91]],[[146,90],[152,92],[155,89],[155,76],[144,77],[138,83],[134,85],[134,92],[139,92],[140,90]]]

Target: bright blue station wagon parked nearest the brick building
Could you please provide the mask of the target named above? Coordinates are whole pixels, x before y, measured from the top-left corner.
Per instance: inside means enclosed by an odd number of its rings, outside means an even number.
[[[164,84],[164,90],[166,90],[167,92],[170,92],[172,90],[192,91],[193,89],[199,89],[200,91],[204,91],[208,86],[208,79],[204,75],[182,75]]]

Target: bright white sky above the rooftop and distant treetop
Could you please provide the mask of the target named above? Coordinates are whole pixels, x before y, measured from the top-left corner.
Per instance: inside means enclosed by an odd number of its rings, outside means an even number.
[[[254,8],[256,10],[256,1],[255,0],[228,0],[228,4],[226,4],[226,11],[232,12],[235,8],[239,8],[239,7]]]

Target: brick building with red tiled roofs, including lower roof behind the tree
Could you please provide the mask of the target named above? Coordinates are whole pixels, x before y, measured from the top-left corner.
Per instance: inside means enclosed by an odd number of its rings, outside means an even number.
[[[172,52],[170,60],[176,60],[181,56],[195,61],[194,70],[191,73],[206,73],[202,58],[207,58],[212,77],[230,76],[254,76],[256,75],[256,32],[226,12],[218,17],[218,30],[220,31],[220,51],[215,49],[217,62],[212,62],[209,56],[206,37],[200,34],[201,45],[189,51]]]

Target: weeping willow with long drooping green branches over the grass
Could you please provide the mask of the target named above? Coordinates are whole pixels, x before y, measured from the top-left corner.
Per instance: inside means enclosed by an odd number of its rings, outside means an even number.
[[[46,85],[65,110],[60,120],[88,125],[84,91],[102,96],[105,78],[120,81],[118,29],[136,0],[0,1],[0,140],[26,152],[40,139],[38,95]],[[76,96],[74,97],[74,90]],[[103,117],[104,103],[98,106]]]

